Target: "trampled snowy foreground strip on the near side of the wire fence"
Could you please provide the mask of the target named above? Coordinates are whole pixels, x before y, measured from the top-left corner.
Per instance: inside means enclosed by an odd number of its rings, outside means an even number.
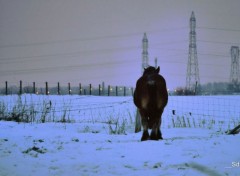
[[[90,125],[96,125],[93,130]],[[99,124],[0,121],[0,175],[239,175],[240,136],[195,128],[109,135]],[[234,167],[233,167],[234,166]]]

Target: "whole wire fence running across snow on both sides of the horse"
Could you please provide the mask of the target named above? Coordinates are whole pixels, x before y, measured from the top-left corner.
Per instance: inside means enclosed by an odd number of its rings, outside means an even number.
[[[162,115],[162,128],[226,131],[240,123],[239,107],[240,96],[169,96]],[[23,122],[124,123],[134,126],[136,107],[132,97],[123,96],[0,96],[0,119],[12,120],[19,116]]]

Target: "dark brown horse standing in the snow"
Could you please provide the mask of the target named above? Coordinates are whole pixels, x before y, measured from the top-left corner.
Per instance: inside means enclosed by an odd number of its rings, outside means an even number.
[[[160,68],[148,67],[144,69],[142,77],[136,84],[134,104],[141,115],[143,135],[145,141],[162,139],[160,130],[162,113],[168,102],[168,92],[165,79],[159,75]],[[149,136],[148,129],[152,129]]]

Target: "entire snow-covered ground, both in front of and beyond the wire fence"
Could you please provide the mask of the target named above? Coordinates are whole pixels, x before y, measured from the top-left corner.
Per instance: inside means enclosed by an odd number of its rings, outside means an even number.
[[[170,96],[164,139],[140,142],[132,97],[1,96],[0,175],[239,175],[239,100]]]

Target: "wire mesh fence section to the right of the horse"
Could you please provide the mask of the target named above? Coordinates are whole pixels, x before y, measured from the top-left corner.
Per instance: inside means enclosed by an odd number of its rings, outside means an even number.
[[[230,129],[240,123],[240,96],[170,96],[165,127]],[[169,120],[170,119],[170,120]]]

